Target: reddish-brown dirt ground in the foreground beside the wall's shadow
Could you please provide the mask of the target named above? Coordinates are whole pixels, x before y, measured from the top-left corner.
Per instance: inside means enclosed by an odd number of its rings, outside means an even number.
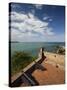
[[[32,76],[38,81],[40,85],[51,85],[51,84],[64,84],[65,82],[65,71],[59,67],[43,62],[42,65],[46,68],[45,71],[35,70]]]

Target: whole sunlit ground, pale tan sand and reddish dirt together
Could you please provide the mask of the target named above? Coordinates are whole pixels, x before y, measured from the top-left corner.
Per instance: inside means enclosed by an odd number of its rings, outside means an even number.
[[[44,53],[46,60],[42,62],[42,66],[46,70],[35,70],[32,76],[38,81],[40,85],[51,84],[64,84],[65,83],[65,64],[64,55],[58,55],[54,53]]]

